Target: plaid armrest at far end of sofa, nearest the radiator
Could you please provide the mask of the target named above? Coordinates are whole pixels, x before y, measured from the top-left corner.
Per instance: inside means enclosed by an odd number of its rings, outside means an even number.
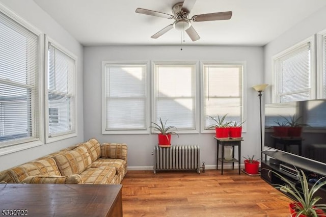
[[[127,144],[102,143],[101,158],[119,158],[127,160]]]

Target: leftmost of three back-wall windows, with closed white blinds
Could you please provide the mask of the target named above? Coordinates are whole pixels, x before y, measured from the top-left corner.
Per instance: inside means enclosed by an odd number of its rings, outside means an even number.
[[[148,133],[145,62],[102,62],[102,133]]]

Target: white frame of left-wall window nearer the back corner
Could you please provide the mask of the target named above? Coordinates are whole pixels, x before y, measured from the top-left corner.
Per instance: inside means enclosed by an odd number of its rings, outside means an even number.
[[[55,135],[50,135],[49,133],[49,100],[48,100],[48,45],[51,43],[53,47],[65,53],[65,55],[69,56],[74,60],[74,74],[73,74],[73,85],[74,85],[74,103],[72,107],[72,111],[70,112],[71,121],[73,122],[74,130],[65,131],[62,133],[57,133]],[[45,143],[52,143],[72,137],[77,136],[77,56],[75,56],[68,49],[60,45],[58,42],[45,35],[44,40],[44,119],[45,119]],[[58,116],[60,116],[58,114]],[[59,121],[60,122],[60,121]]]

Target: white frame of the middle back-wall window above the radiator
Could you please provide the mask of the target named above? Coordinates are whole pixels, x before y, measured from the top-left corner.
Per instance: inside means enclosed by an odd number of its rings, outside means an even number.
[[[199,74],[199,61],[152,61],[151,62],[151,120],[152,122],[157,123],[158,119],[156,119],[156,112],[155,112],[155,80],[156,80],[156,72],[155,72],[155,66],[156,65],[193,65],[194,66],[194,103],[195,103],[195,129],[179,129],[177,128],[176,131],[178,134],[187,134],[187,133],[199,133],[200,131],[200,120],[199,120],[199,80],[198,74]],[[163,120],[165,121],[165,120]],[[167,123],[168,125],[173,125]],[[151,128],[151,133],[156,133],[153,128]]]

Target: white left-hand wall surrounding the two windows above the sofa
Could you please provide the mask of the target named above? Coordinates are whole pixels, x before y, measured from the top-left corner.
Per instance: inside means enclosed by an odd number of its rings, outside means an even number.
[[[77,56],[77,137],[0,156],[0,171],[84,141],[83,46],[32,0],[0,0],[10,10]]]

